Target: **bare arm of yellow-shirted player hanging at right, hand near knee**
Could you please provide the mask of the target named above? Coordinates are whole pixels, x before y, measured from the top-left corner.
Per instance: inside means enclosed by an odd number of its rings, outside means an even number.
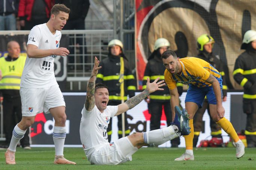
[[[212,88],[213,88],[213,91],[216,97],[216,102],[217,102],[217,114],[218,114],[218,117],[223,118],[225,114],[225,110],[222,106],[220,83],[211,74],[209,78],[206,80],[206,82],[212,84]]]

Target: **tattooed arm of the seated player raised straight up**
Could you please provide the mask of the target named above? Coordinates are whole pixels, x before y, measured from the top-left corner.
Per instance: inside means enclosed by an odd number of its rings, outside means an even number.
[[[95,81],[96,81],[96,75],[98,74],[98,70],[101,68],[98,66],[99,66],[99,61],[97,57],[95,57],[92,74],[87,85],[86,99],[84,103],[84,106],[87,111],[91,111],[95,106],[95,98],[94,98]]]

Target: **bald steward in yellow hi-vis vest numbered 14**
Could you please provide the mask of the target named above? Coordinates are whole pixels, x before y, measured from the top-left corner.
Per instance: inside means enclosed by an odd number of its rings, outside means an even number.
[[[20,80],[26,61],[25,57],[20,57],[20,45],[16,41],[7,44],[8,56],[0,58],[0,91],[3,94],[3,120],[6,144],[2,148],[8,148],[12,130],[17,122],[21,121],[21,98]],[[1,73],[2,72],[2,73]],[[24,149],[31,149],[29,144],[29,130],[20,140]]]

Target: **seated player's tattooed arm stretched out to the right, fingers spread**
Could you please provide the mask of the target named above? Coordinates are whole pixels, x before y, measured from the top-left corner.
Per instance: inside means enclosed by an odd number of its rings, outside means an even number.
[[[118,110],[115,116],[123,112],[126,112],[131,108],[134,108],[134,106],[138,105],[141,101],[143,101],[150,93],[155,92],[157,90],[164,90],[159,88],[165,85],[164,80],[159,81],[157,83],[158,80],[159,78],[157,78],[154,82],[149,83],[149,78],[147,78],[147,88],[143,92],[141,92],[139,95],[136,95],[130,98],[125,103],[118,105]]]

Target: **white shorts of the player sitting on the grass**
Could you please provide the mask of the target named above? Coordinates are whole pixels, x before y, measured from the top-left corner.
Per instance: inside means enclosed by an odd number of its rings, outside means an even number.
[[[88,158],[91,164],[96,165],[117,165],[131,161],[133,155],[138,150],[130,142],[128,137],[116,140],[113,145],[102,145],[95,148],[95,151]]]

